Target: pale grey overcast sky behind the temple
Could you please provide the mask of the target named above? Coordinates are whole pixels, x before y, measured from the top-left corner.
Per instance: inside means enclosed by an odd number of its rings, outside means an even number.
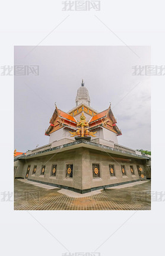
[[[139,57],[127,46],[15,46],[14,64],[39,65],[40,73],[14,77],[14,148],[49,143],[55,102],[65,112],[74,108],[84,78],[92,108],[101,112],[111,102],[119,144],[150,150],[150,78],[132,75],[133,66],[150,65],[150,47],[130,47]]]

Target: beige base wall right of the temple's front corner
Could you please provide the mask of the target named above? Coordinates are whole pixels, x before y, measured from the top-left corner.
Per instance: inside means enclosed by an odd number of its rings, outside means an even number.
[[[124,162],[113,159],[113,156],[107,153],[99,153],[97,151],[85,150],[82,161],[82,189],[104,187],[105,185],[120,184],[124,182],[132,182],[139,180],[137,165],[142,165],[141,160],[133,160]],[[93,178],[93,164],[100,166],[100,178]],[[109,165],[114,165],[115,176],[110,176]],[[121,165],[125,166],[126,175],[122,175]],[[134,168],[134,175],[131,173],[130,165]]]

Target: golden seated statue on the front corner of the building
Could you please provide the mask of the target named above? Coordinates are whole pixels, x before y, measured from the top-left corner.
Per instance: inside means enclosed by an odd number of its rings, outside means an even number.
[[[86,118],[84,116],[84,113],[82,112],[81,116],[80,116],[80,121],[77,122],[77,131],[75,132],[70,132],[72,135],[71,137],[75,137],[75,136],[78,136],[78,137],[88,137],[88,136],[93,136],[93,137],[96,137],[96,132],[90,132],[89,131],[89,124],[88,122],[86,121]]]

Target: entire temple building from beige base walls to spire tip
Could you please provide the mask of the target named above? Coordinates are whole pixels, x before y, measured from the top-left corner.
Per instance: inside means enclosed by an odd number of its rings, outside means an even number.
[[[82,80],[75,107],[55,106],[45,131],[49,144],[14,157],[15,178],[80,193],[150,178],[150,156],[118,144],[111,106],[97,112]]]

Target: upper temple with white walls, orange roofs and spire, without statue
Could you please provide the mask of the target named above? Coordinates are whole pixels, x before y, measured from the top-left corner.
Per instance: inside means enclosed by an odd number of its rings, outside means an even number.
[[[74,132],[77,129],[77,122],[82,112],[87,119],[90,131],[97,131],[96,138],[118,143],[118,136],[122,133],[116,125],[116,119],[110,106],[100,113],[90,108],[90,97],[83,80],[81,87],[77,90],[75,102],[76,107],[68,113],[63,112],[56,106],[50,119],[49,128],[45,132],[45,135],[49,136],[49,143],[62,138],[70,138],[71,134],[69,132]]]

